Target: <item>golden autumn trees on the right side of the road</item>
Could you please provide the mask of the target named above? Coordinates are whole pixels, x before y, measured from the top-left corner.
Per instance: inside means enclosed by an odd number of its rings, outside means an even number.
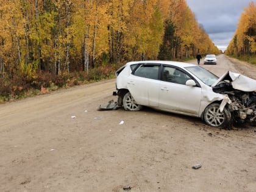
[[[244,8],[226,54],[256,65],[256,5]]]

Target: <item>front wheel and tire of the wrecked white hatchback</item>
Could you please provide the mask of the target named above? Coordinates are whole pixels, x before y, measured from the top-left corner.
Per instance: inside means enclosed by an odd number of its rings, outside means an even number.
[[[226,107],[220,112],[219,106],[218,103],[208,105],[204,110],[204,121],[208,126],[230,129],[231,113]]]

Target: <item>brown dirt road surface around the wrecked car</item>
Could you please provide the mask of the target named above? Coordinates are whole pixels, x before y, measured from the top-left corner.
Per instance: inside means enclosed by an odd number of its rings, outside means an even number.
[[[256,74],[225,55],[202,66]],[[115,79],[0,105],[0,191],[256,191],[256,127],[96,110],[112,91]]]

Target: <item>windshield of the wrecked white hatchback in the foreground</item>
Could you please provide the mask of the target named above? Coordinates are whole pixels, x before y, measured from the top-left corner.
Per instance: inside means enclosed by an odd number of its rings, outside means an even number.
[[[210,71],[207,71],[207,69],[202,68],[201,66],[188,66],[186,69],[208,86],[211,86],[216,82],[216,80],[219,79],[218,76],[211,73]]]

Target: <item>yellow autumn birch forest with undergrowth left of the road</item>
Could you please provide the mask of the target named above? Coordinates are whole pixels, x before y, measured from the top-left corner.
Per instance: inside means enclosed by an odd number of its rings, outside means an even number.
[[[197,52],[219,50],[185,0],[0,2],[0,102],[112,78],[127,61]]]

